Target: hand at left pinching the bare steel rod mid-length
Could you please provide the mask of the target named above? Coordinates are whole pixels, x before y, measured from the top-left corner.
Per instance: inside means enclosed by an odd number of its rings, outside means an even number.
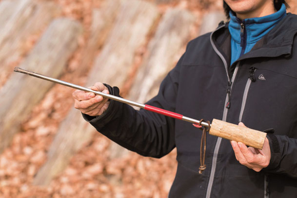
[[[95,91],[109,94],[108,88],[101,82],[96,82],[95,85],[89,87]],[[76,90],[73,92],[74,107],[79,109],[83,114],[89,116],[100,116],[108,108],[110,101],[108,98],[95,95],[92,92],[84,92]]]

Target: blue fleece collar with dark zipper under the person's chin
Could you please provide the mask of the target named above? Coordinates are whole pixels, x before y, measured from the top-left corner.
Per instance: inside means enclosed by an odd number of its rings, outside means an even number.
[[[286,15],[285,4],[282,4],[276,13],[258,18],[240,20],[230,12],[228,28],[231,34],[231,65],[240,56],[249,52],[256,42]]]

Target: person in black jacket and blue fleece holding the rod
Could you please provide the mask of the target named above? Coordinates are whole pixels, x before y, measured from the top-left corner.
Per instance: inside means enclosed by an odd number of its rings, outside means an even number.
[[[100,133],[142,156],[161,158],[176,147],[169,198],[296,198],[297,16],[286,13],[285,0],[223,3],[230,20],[188,43],[147,104],[273,128],[262,150],[207,135],[207,168],[199,174],[201,133],[188,122],[82,91],[73,93],[75,107]],[[119,96],[107,84],[91,88]]]

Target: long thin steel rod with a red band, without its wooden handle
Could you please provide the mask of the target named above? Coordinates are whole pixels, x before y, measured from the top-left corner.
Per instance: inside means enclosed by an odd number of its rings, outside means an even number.
[[[194,124],[199,124],[199,122],[200,122],[197,119],[191,119],[191,118],[185,117],[183,115],[180,115],[180,114],[177,114],[177,113],[174,113],[174,112],[171,112],[171,111],[167,111],[167,110],[164,110],[164,109],[153,107],[153,106],[150,106],[150,105],[147,105],[147,104],[141,104],[139,102],[134,102],[132,100],[123,99],[123,98],[113,96],[113,95],[110,95],[110,94],[105,94],[105,93],[102,93],[102,92],[99,92],[99,91],[92,90],[92,89],[87,88],[87,87],[82,87],[82,86],[79,86],[79,85],[76,85],[76,84],[73,84],[73,83],[70,83],[70,82],[66,82],[66,81],[63,81],[63,80],[54,79],[54,78],[51,78],[51,77],[48,77],[48,76],[44,76],[44,75],[38,74],[36,72],[31,72],[31,71],[22,69],[20,67],[15,67],[14,71],[22,73],[22,74],[27,74],[27,75],[30,75],[30,76],[33,76],[33,77],[37,77],[39,79],[44,79],[44,80],[48,80],[48,81],[51,81],[51,82],[55,82],[55,83],[58,83],[58,84],[61,84],[61,85],[64,85],[64,86],[68,86],[68,87],[71,87],[71,88],[75,88],[75,89],[78,89],[78,90],[81,90],[81,91],[92,92],[92,93],[94,93],[96,95],[99,95],[99,96],[102,96],[102,97],[105,97],[105,98],[108,98],[108,99],[113,99],[113,100],[116,100],[116,101],[119,101],[119,102],[122,102],[122,103],[126,103],[126,104],[129,104],[129,105],[132,105],[132,106],[136,106],[136,107],[148,110],[148,111],[153,111],[153,112],[156,112],[158,114],[162,114],[162,115],[165,115],[165,116],[168,116],[168,117],[181,119],[181,120],[191,122],[191,123],[194,123]],[[206,123],[206,122],[201,122],[200,125],[208,127],[208,123]]]

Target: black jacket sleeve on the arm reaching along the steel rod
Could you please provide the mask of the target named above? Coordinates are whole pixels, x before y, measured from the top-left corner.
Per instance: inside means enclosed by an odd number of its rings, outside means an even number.
[[[147,104],[175,112],[178,91],[179,59],[177,66],[163,79],[158,95]],[[119,96],[117,87],[111,88]],[[161,158],[175,148],[175,119],[111,100],[108,109],[99,117],[83,115],[101,134],[142,156]]]

